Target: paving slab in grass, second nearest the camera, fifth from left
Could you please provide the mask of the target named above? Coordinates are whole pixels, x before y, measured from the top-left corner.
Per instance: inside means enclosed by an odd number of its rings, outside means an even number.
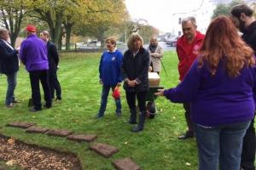
[[[116,147],[101,143],[90,144],[90,150],[94,150],[99,155],[105,156],[107,158],[113,156],[113,154],[119,151]]]

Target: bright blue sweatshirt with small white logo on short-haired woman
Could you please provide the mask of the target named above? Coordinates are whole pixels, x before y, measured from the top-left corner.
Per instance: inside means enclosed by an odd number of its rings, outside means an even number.
[[[123,54],[119,50],[113,53],[105,51],[102,54],[102,59],[99,66],[100,79],[104,85],[114,86],[118,82],[123,81],[121,74],[121,65],[123,61]]]

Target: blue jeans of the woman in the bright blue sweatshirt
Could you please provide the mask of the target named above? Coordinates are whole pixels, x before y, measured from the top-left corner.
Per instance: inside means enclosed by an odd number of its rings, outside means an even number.
[[[101,108],[100,111],[98,112],[98,116],[104,116],[104,112],[106,111],[107,103],[108,103],[108,94],[110,88],[113,89],[116,87],[115,86],[106,86],[102,85],[102,101],[101,101]],[[115,99],[115,105],[116,105],[116,114],[121,113],[122,105],[121,105],[121,99]]]

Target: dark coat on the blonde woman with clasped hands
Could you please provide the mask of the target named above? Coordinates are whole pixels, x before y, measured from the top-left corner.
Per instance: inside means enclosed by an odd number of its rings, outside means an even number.
[[[122,73],[123,77],[129,80],[139,79],[140,84],[136,87],[129,87],[127,82],[124,82],[124,88],[127,92],[145,92],[148,91],[148,66],[149,54],[145,48],[140,48],[139,52],[133,56],[131,50],[125,51]]]

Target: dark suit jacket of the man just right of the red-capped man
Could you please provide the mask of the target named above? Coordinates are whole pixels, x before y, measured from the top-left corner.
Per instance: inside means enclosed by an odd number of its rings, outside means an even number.
[[[49,71],[56,71],[59,64],[59,54],[53,42],[47,42],[47,58],[49,62]]]

